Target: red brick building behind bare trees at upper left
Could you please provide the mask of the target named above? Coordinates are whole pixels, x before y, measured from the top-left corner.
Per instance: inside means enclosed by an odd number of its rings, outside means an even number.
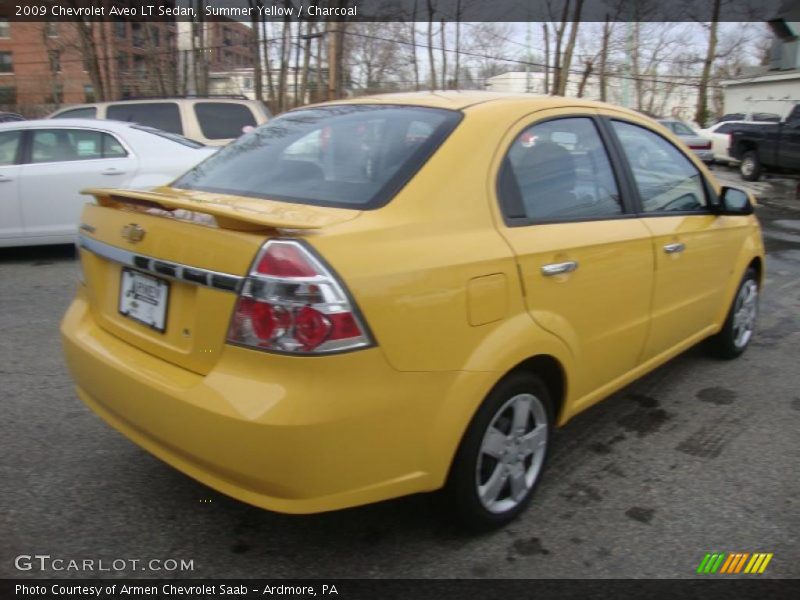
[[[179,50],[175,22],[94,22],[83,39],[78,27],[0,19],[0,109],[35,117],[65,104],[182,96],[198,51],[211,72],[253,66],[253,32],[235,21],[205,24],[196,45],[205,51]]]

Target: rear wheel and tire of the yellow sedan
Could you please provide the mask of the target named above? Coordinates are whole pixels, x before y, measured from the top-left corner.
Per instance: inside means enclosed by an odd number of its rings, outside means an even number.
[[[541,379],[517,372],[500,381],[467,428],[440,492],[447,516],[470,531],[514,520],[541,479],[552,430],[553,404]]]

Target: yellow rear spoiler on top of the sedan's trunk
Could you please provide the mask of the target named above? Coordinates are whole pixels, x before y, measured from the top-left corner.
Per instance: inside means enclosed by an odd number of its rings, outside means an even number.
[[[357,210],[291,204],[261,198],[244,198],[159,188],[165,191],[88,188],[82,194],[94,196],[100,206],[149,212],[178,210],[214,218],[222,229],[263,231],[265,229],[321,229],[357,217]],[[191,220],[191,219],[187,219]]]

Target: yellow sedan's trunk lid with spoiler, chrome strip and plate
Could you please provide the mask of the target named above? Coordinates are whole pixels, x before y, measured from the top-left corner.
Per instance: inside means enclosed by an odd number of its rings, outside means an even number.
[[[222,352],[242,278],[265,241],[360,214],[166,187],[86,193],[97,204],[83,211],[79,245],[95,321],[199,374]]]

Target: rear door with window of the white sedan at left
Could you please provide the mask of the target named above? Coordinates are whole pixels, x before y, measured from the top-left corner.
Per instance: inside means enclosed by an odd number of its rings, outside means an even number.
[[[136,158],[108,132],[52,127],[28,136],[19,186],[26,236],[69,241],[88,201],[80,191],[124,185],[136,172]]]

